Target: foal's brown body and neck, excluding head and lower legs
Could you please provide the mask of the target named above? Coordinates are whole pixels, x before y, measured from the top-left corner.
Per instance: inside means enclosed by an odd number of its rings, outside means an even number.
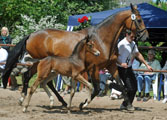
[[[86,38],[81,40],[69,57],[48,56],[42,59],[38,65],[38,77],[46,78],[50,72],[56,72],[65,76],[75,76],[85,67]]]

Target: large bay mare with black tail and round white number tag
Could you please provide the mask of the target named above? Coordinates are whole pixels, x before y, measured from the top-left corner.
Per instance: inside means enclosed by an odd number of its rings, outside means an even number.
[[[130,29],[136,34],[138,40],[144,41],[149,37],[137,7],[134,7],[132,4],[130,7],[130,10],[117,12],[96,26],[82,29],[80,31],[68,32],[63,30],[45,29],[31,33],[15,46],[15,49],[13,49],[14,54],[9,55],[7,59],[5,71],[2,76],[4,88],[7,86],[7,79],[11,69],[24,50],[27,50],[33,58],[39,59],[49,55],[69,56],[75,45],[89,34],[92,36],[91,39],[95,40],[97,49],[101,53],[98,59],[89,53],[86,54],[89,56],[86,57],[86,65],[88,68],[91,68],[89,71],[91,72],[90,75],[94,86],[94,92],[91,98],[93,100],[99,92],[99,69],[104,67],[107,68],[119,82],[116,66],[118,56],[116,46],[120,33],[124,29]],[[123,90],[123,95],[125,97],[124,99],[128,100],[125,90]],[[81,103],[80,108],[82,108],[83,105],[86,106],[86,104],[86,101]]]

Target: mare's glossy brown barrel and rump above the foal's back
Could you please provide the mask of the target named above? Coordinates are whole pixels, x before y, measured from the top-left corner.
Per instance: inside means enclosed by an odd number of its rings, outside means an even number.
[[[30,35],[26,49],[33,58],[69,56],[75,45],[84,37],[84,34],[78,32],[45,29]]]

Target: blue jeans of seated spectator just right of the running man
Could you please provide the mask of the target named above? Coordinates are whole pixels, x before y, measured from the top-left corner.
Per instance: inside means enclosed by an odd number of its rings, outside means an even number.
[[[145,82],[145,93],[150,92],[151,82],[152,80],[155,80],[155,75],[138,75],[137,76],[137,89],[138,92],[141,92],[143,88],[143,82]]]

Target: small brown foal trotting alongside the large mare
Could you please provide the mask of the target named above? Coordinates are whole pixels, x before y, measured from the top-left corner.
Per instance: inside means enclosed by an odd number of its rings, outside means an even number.
[[[40,60],[37,66],[37,79],[30,88],[23,112],[27,111],[30,99],[37,89],[38,85],[42,83],[43,86],[46,86],[46,83],[50,80],[53,80],[53,78],[55,78],[57,74],[70,76],[73,80],[77,80],[83,83],[89,90],[88,102],[90,102],[91,93],[93,92],[93,86],[81,75],[86,69],[85,56],[87,52],[93,54],[94,56],[100,55],[100,52],[94,45],[94,42],[92,40],[89,41],[89,36],[86,36],[83,40],[78,42],[78,44],[74,48],[74,51],[69,57],[48,56]],[[73,96],[74,92],[71,91],[71,97],[68,104],[69,110]]]

